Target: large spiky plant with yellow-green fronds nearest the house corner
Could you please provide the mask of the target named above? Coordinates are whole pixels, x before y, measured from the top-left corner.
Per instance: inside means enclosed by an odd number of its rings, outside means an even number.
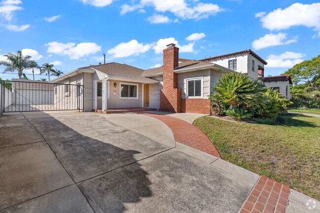
[[[223,75],[213,90],[220,94],[222,101],[230,104],[231,108],[262,105],[268,102],[268,98],[264,95],[266,87],[240,73]]]

